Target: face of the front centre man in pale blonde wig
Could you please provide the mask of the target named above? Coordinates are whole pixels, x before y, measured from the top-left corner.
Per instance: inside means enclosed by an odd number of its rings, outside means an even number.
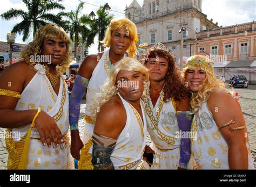
[[[125,100],[136,102],[143,94],[143,75],[135,71],[120,70],[117,74],[116,86]]]

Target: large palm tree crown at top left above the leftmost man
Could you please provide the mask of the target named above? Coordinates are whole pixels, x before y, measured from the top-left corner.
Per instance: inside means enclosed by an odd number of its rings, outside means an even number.
[[[64,10],[65,7],[57,2],[44,2],[38,0],[22,0],[28,8],[28,12],[24,10],[17,10],[11,8],[7,12],[3,13],[1,17],[6,20],[10,20],[17,17],[22,17],[21,23],[16,24],[11,32],[23,34],[22,40],[25,41],[29,38],[31,27],[33,29],[33,37],[39,27],[50,23],[61,24],[60,15],[53,15],[48,13],[48,11],[60,9]]]

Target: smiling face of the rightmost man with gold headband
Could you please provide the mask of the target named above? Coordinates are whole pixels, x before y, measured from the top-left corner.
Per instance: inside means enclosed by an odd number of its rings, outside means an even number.
[[[188,87],[193,92],[199,91],[199,86],[206,79],[205,71],[201,70],[200,67],[194,70],[187,70],[185,81],[188,83]]]

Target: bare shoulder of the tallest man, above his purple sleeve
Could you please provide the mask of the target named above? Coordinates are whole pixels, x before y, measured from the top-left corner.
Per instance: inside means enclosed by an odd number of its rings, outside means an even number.
[[[79,68],[78,75],[90,79],[101,57],[102,53],[87,56]]]

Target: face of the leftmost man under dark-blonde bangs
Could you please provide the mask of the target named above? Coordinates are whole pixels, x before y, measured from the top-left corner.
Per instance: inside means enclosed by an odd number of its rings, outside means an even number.
[[[44,38],[41,55],[51,55],[51,64],[57,65],[63,61],[67,52],[66,42],[59,38]]]

